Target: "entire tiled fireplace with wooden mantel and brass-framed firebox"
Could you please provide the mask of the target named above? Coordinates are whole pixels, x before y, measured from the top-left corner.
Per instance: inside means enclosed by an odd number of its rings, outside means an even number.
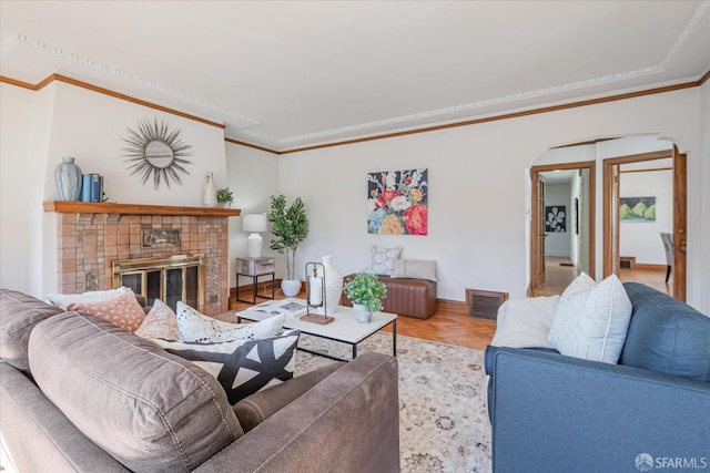
[[[229,310],[227,218],[239,209],[79,202],[44,209],[57,213],[59,292],[128,286],[149,304]]]

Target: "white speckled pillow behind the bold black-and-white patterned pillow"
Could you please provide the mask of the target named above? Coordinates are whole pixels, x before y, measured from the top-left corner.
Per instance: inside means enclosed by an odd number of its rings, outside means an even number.
[[[282,332],[286,316],[270,317],[255,323],[230,323],[203,316],[192,307],[178,301],[178,331],[182,341],[219,343],[232,340],[257,340]]]

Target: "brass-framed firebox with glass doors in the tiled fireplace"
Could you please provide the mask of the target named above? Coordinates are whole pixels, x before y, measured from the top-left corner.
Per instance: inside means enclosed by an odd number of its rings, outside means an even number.
[[[152,306],[160,299],[171,309],[182,300],[204,311],[204,255],[114,259],[113,287],[130,287]]]

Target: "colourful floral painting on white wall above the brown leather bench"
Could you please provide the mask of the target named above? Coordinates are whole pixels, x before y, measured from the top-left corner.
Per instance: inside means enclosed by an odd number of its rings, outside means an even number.
[[[367,233],[426,235],[427,169],[386,171],[367,175]]]

